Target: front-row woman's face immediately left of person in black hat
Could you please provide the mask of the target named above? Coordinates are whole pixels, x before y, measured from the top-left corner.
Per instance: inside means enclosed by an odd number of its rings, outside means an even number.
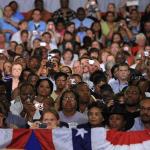
[[[101,110],[97,107],[93,107],[89,110],[88,118],[89,118],[89,123],[93,127],[97,127],[97,126],[101,125],[102,121],[104,120]]]

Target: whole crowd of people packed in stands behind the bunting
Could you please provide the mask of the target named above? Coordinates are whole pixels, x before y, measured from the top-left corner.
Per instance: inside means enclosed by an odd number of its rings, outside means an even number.
[[[0,128],[150,129],[150,4],[34,5],[0,13]]]

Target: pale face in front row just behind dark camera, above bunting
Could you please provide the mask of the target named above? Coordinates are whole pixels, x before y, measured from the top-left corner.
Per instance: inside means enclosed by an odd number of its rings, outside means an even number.
[[[53,113],[47,112],[43,115],[42,123],[47,124],[48,129],[53,129],[58,127],[59,120]]]

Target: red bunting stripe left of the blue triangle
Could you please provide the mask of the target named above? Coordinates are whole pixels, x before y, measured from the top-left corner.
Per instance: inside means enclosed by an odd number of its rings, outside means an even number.
[[[14,129],[13,138],[11,144],[8,145],[8,148],[24,149],[31,133],[32,130],[29,129]]]

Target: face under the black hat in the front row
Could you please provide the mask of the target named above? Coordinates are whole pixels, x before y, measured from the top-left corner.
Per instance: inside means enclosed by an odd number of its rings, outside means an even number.
[[[120,114],[112,114],[109,117],[109,127],[110,129],[123,130],[125,127],[124,117]]]

